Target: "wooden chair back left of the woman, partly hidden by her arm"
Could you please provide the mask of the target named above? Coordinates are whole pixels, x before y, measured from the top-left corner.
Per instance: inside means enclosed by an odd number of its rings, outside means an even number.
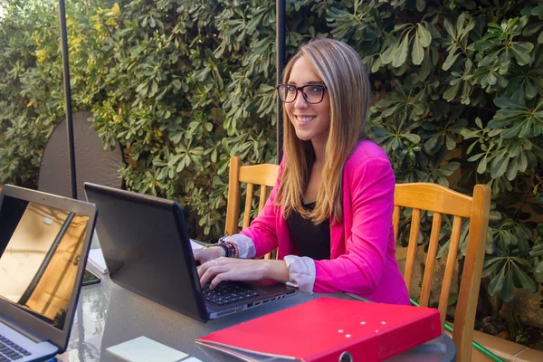
[[[258,213],[260,214],[268,197],[268,187],[275,185],[279,165],[262,164],[255,166],[242,166],[240,157],[230,158],[230,175],[228,182],[228,205],[226,206],[226,234],[233,235],[239,231],[240,203],[242,183],[247,184],[245,206],[243,209],[243,228],[251,223],[251,205],[254,186],[260,186]],[[264,259],[270,259],[272,252],[267,253]]]

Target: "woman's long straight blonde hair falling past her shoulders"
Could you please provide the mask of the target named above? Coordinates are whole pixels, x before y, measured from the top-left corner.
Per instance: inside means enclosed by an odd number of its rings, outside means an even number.
[[[367,138],[366,118],[370,97],[367,72],[358,53],[332,39],[318,39],[300,46],[283,71],[283,83],[291,77],[292,66],[301,57],[324,82],[330,100],[330,130],[326,144],[322,182],[312,211],[302,205],[303,193],[310,180],[315,154],[310,140],[296,136],[294,126],[283,110],[283,151],[287,157],[276,204],[283,217],[292,211],[319,224],[328,218],[337,223],[342,213],[343,167],[357,143]]]

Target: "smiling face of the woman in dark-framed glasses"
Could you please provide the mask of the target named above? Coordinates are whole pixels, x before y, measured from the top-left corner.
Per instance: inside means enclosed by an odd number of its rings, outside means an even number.
[[[305,57],[300,57],[292,65],[288,84],[302,87],[308,84],[324,85],[324,82],[311,68]],[[310,104],[298,92],[296,100],[284,103],[285,110],[296,131],[296,136],[302,140],[310,140],[313,148],[324,147],[330,130],[330,98],[329,91],[325,90],[324,98],[320,103]]]

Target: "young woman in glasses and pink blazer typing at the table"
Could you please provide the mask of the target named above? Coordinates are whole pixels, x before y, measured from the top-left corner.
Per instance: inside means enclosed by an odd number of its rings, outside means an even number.
[[[284,104],[279,176],[262,213],[207,249],[202,285],[273,279],[305,292],[352,292],[409,304],[395,260],[395,176],[367,140],[369,81],[357,52],[319,39],[301,45],[277,86]],[[258,260],[278,248],[278,260]]]

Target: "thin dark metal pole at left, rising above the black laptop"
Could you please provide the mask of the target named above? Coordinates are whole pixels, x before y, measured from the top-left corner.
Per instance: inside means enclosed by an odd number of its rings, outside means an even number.
[[[70,65],[68,62],[68,36],[66,32],[66,9],[64,0],[59,0],[61,20],[62,68],[64,75],[64,96],[66,106],[66,129],[68,132],[68,162],[70,164],[71,198],[77,199],[77,180],[75,176],[75,146],[73,143],[73,122],[71,119]]]

